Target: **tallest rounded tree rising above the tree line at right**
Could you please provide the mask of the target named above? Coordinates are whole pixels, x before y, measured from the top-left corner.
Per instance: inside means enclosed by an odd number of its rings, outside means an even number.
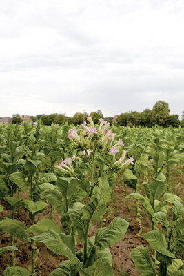
[[[170,108],[168,103],[164,101],[157,101],[151,111],[152,123],[159,126],[165,126],[166,119],[170,115]]]

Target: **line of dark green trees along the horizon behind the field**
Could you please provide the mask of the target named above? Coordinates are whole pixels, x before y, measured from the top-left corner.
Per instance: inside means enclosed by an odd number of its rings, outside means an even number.
[[[89,116],[92,117],[94,124],[98,123],[100,118],[108,121],[110,125],[115,124],[116,126],[145,126],[151,128],[152,126],[158,125],[167,128],[168,126],[173,126],[174,128],[178,128],[178,126],[184,127],[184,111],[181,115],[182,119],[179,120],[178,115],[173,114],[170,115],[169,104],[164,101],[157,101],[152,110],[145,109],[143,112],[124,112],[119,115],[114,115],[114,117],[103,117],[103,113],[101,110],[97,110],[96,112],[76,112],[72,117],[68,117],[65,113],[53,113],[50,115],[36,115],[30,116],[32,121],[37,121],[37,119],[41,119],[42,123],[45,126],[50,126],[52,123],[54,124],[74,124],[79,125],[83,123]],[[12,117],[12,122],[14,124],[21,124],[20,115],[16,115],[16,117]]]

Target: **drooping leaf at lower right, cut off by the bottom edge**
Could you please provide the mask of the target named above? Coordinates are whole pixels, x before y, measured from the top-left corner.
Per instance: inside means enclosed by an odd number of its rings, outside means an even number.
[[[155,276],[156,270],[154,268],[154,262],[152,261],[148,248],[138,246],[131,250],[130,256],[141,273],[141,276]]]

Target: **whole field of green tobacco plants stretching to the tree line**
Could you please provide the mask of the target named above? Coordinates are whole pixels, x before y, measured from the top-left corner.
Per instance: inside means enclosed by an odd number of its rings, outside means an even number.
[[[0,125],[0,275],[184,275],[183,137]]]

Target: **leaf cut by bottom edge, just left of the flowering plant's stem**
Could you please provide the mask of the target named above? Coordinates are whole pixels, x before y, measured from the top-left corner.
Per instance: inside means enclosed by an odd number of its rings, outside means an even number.
[[[49,276],[76,276],[77,273],[76,264],[70,261],[63,261]]]

